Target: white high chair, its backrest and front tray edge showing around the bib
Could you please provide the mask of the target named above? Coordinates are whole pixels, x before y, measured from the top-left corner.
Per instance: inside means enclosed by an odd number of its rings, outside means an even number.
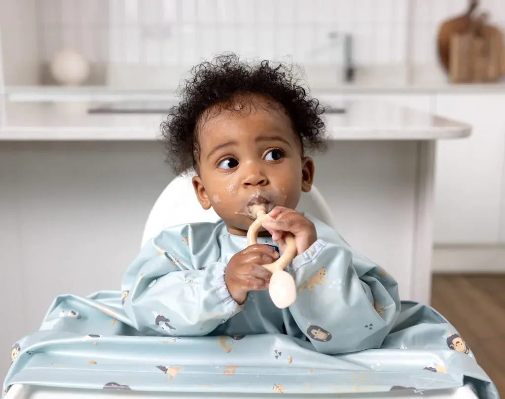
[[[334,227],[332,212],[323,196],[317,188],[313,186],[312,191],[303,193],[296,208],[298,211],[307,211],[326,224]],[[145,223],[142,235],[142,246],[150,238],[156,236],[165,227],[181,223],[197,221],[216,221],[219,216],[214,210],[204,210],[196,200],[191,184],[191,178],[175,178],[160,194],[151,209]],[[120,392],[113,389],[71,389],[57,386],[38,386],[16,384],[11,387],[5,399],[66,399],[69,397],[79,399],[111,399],[119,397],[125,399],[141,399],[154,397],[170,397],[171,399],[218,399],[223,394],[219,393],[198,393],[198,392],[142,392],[127,391]],[[226,394],[227,399],[256,399],[264,397],[260,394]],[[300,395],[283,393],[283,397],[291,399],[303,399]],[[474,391],[469,386],[462,386],[456,389],[443,389],[433,391],[423,391],[424,397],[430,399],[478,399]],[[330,394],[311,394],[311,399],[331,399]],[[411,391],[394,392],[364,392],[335,394],[338,398],[348,399],[418,399],[419,394]]]

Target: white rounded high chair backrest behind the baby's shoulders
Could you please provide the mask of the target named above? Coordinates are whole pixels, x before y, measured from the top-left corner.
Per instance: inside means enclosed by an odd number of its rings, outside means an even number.
[[[314,186],[309,193],[302,193],[296,210],[310,213],[326,224],[335,227],[328,204]],[[176,177],[160,194],[147,217],[142,235],[142,246],[166,227],[217,220],[219,220],[217,213],[212,208],[203,209],[196,199],[191,177]]]

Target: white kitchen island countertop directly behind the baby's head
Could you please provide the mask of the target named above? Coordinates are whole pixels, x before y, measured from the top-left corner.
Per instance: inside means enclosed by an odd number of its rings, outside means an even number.
[[[6,101],[0,141],[157,140],[161,114],[89,114],[89,102]],[[387,103],[348,101],[325,116],[330,140],[435,140],[470,135],[464,123]]]

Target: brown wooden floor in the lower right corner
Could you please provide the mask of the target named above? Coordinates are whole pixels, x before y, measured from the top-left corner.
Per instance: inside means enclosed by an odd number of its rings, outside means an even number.
[[[505,274],[435,274],[431,306],[455,326],[505,398]]]

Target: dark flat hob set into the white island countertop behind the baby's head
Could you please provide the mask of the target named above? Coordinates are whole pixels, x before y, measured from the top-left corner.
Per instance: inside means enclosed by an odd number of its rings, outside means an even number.
[[[107,102],[88,108],[88,113],[171,113],[174,104],[160,101]],[[345,108],[327,106],[326,113],[345,113]]]

